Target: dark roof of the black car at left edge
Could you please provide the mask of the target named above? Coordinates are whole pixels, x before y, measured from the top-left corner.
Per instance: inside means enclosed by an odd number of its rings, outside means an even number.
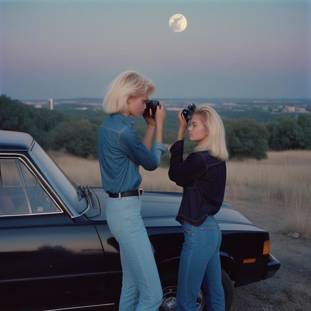
[[[27,151],[33,141],[28,133],[0,130],[0,151]]]

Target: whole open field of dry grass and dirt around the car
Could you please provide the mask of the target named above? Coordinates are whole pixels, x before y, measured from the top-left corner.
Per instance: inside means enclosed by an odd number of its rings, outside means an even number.
[[[98,160],[49,155],[78,184],[102,186]],[[140,167],[140,187],[182,192],[167,172]],[[271,253],[281,262],[271,279],[235,288],[231,311],[311,311],[311,151],[270,151],[265,160],[227,161],[225,202],[269,231]]]

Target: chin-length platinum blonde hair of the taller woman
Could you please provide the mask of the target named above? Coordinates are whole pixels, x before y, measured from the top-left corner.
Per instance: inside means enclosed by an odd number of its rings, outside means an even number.
[[[139,97],[148,91],[148,97],[154,94],[156,86],[152,80],[137,71],[125,71],[118,75],[104,91],[104,111],[107,114],[125,112],[130,96]]]

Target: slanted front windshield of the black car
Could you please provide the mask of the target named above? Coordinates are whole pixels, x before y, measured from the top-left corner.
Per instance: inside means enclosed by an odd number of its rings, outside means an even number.
[[[29,153],[49,183],[57,189],[58,195],[67,204],[74,216],[80,216],[87,209],[88,202],[85,197],[79,201],[77,187],[72,180],[37,142],[34,143]]]

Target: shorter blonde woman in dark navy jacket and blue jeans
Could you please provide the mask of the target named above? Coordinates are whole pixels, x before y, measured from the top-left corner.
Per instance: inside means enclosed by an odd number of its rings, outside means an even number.
[[[169,179],[183,187],[183,199],[176,220],[183,226],[184,243],[180,257],[177,309],[197,310],[201,285],[209,311],[224,311],[219,248],[221,232],[215,215],[224,199],[228,151],[224,125],[214,109],[199,105],[189,121],[188,134],[197,142],[194,152],[183,161],[187,121],[178,114],[177,141],[171,146]]]

